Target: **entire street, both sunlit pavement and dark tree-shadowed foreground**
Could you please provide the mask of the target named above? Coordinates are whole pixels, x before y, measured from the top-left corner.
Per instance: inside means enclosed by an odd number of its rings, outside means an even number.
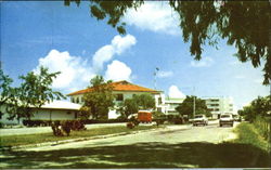
[[[232,130],[218,123],[166,126],[137,134],[4,152],[0,168],[267,167],[269,161],[261,151],[222,143],[236,138]]]

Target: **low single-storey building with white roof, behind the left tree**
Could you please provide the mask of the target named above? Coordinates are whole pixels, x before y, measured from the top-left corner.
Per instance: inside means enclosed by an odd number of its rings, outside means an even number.
[[[77,119],[81,105],[66,102],[54,101],[47,103],[40,108],[31,107],[33,117],[31,120],[74,120]],[[4,106],[0,107],[0,122],[3,125],[22,125],[23,119],[9,120],[9,115],[5,112]]]

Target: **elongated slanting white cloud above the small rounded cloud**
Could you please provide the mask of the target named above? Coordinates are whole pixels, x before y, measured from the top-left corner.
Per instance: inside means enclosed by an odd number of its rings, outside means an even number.
[[[131,45],[137,43],[137,39],[131,35],[125,37],[115,36],[111,44],[100,48],[93,56],[93,68],[96,73],[103,69],[103,64],[109,62],[115,54],[120,55],[128,50]]]

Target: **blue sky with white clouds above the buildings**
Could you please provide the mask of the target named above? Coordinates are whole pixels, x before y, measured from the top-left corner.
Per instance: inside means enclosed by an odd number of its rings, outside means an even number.
[[[91,17],[88,1],[79,6],[62,1],[0,5],[0,60],[13,86],[21,83],[18,76],[46,66],[61,71],[52,88],[64,94],[85,89],[95,75],[162,90],[171,97],[229,96],[237,108],[269,94],[269,87],[261,84],[262,66],[238,62],[236,49],[225,40],[218,49],[203,47],[203,58],[194,61],[179,17],[166,1],[128,10],[122,18],[126,35]]]

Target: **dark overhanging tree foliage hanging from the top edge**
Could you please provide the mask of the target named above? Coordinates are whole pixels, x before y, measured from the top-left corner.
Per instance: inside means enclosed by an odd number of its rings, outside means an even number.
[[[65,0],[65,5],[80,0]],[[90,13],[119,34],[126,34],[121,17],[128,9],[138,9],[144,0],[101,1],[90,0]],[[170,6],[180,16],[184,42],[190,42],[190,52],[195,60],[202,58],[204,45],[217,47],[219,39],[235,45],[241,62],[250,61],[254,67],[264,63],[263,84],[271,80],[271,3],[262,1],[178,1],[169,0]]]

